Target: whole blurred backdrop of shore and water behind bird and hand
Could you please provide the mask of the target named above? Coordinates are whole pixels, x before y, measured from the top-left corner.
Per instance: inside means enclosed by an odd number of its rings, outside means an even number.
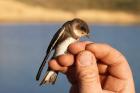
[[[0,93],[69,92],[63,74],[43,87],[35,76],[52,36],[75,17],[91,30],[82,40],[108,43],[126,56],[140,92],[139,0],[0,0]]]

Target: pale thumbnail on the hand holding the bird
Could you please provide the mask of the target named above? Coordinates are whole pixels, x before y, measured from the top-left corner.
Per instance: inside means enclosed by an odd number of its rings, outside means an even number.
[[[84,51],[79,55],[79,63],[81,66],[90,66],[93,61],[92,53]]]

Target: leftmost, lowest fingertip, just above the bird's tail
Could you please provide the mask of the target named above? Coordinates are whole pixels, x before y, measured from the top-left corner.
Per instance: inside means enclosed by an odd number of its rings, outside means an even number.
[[[59,71],[62,73],[67,72],[68,67],[63,67],[58,64],[58,62],[55,59],[52,59],[48,62],[49,67],[54,71]]]

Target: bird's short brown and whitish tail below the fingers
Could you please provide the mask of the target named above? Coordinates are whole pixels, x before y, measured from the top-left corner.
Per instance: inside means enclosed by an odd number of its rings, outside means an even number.
[[[52,71],[50,69],[47,70],[46,75],[42,79],[40,85],[43,84],[54,84],[57,79],[58,72]]]

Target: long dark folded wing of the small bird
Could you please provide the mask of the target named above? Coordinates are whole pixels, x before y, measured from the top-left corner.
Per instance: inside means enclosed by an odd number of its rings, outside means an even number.
[[[38,70],[38,73],[37,73],[37,75],[36,75],[36,80],[39,80],[40,75],[41,75],[41,72],[42,72],[42,70],[43,70],[43,67],[44,67],[45,64],[46,64],[46,61],[47,61],[47,59],[48,59],[48,57],[49,57],[51,51],[56,47],[57,41],[63,36],[64,31],[65,31],[65,27],[60,28],[60,29],[55,33],[53,39],[51,40],[51,42],[50,42],[50,44],[49,44],[49,46],[48,46],[47,51],[46,51],[46,56],[45,56],[45,58],[44,58],[44,60],[43,60],[43,62],[42,62],[42,64],[41,64],[41,66],[40,66],[40,68],[39,68],[39,70]]]

